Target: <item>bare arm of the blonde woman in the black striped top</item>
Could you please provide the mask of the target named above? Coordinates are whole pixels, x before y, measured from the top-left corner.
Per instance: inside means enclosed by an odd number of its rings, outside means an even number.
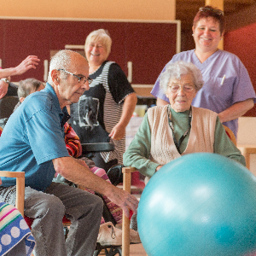
[[[125,137],[125,128],[131,119],[136,104],[137,95],[135,92],[125,97],[121,118],[119,119],[119,122],[116,125],[114,125],[112,131],[109,133],[109,137],[112,137],[113,140],[120,140],[123,137]]]

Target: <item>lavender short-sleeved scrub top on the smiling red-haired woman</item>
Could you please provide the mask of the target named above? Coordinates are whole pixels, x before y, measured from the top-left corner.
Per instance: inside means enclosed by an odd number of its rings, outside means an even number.
[[[220,113],[236,102],[253,98],[255,103],[253,84],[246,67],[236,55],[218,49],[207,61],[201,63],[195,55],[195,49],[191,49],[174,55],[166,66],[175,61],[192,62],[201,70],[205,84],[197,92],[192,106]],[[165,70],[166,67],[162,73]],[[160,77],[156,80],[151,94],[169,102],[166,94],[160,89]],[[238,119],[225,122],[224,125],[227,125],[237,135]]]

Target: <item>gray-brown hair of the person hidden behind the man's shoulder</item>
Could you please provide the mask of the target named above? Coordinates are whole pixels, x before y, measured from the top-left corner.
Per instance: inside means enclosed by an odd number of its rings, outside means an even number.
[[[19,87],[18,87],[19,98],[21,97],[26,98],[26,96],[29,96],[30,94],[32,94],[32,92],[37,91],[41,84],[44,85],[43,82],[37,79],[21,80],[19,82]]]

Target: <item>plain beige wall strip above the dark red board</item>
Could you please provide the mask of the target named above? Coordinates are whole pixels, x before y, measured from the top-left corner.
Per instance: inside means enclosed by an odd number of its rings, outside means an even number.
[[[0,16],[175,20],[176,0],[0,0]]]

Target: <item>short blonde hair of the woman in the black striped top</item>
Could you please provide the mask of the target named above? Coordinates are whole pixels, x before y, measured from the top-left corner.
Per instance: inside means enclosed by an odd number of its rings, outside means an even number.
[[[87,38],[85,40],[84,49],[92,41],[95,41],[95,42],[102,41],[102,44],[107,49],[107,58],[108,58],[108,55],[110,54],[110,51],[111,51],[111,44],[112,44],[112,39],[110,38],[108,30],[101,28],[101,29],[95,30],[93,32],[90,32],[90,34],[87,36]]]

